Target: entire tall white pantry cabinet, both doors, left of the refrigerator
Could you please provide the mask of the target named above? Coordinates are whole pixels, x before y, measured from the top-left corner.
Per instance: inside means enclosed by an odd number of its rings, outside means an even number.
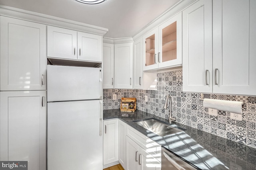
[[[46,169],[46,25],[0,16],[0,160]]]

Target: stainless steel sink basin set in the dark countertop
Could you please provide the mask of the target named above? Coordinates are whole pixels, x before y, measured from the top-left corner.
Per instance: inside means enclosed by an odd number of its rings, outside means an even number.
[[[170,134],[181,132],[182,130],[176,129],[173,127],[170,127],[169,125],[166,125],[165,123],[162,123],[160,121],[157,121],[155,119],[148,119],[143,121],[136,121],[134,122],[137,125],[140,125],[144,127],[145,129],[156,133],[157,135],[164,137]],[[184,129],[186,130],[186,129]]]

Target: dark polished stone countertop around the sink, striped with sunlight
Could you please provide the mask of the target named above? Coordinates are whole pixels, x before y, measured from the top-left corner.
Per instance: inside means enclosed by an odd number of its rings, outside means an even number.
[[[103,119],[118,118],[134,127],[162,147],[180,156],[201,170],[256,170],[256,149],[177,122],[168,123],[156,115],[136,110],[104,110]],[[173,127],[186,129],[179,133],[160,137],[133,121],[154,118]]]

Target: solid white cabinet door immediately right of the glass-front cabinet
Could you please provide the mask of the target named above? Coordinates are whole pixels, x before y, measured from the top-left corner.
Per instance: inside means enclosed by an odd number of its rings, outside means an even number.
[[[182,12],[183,91],[212,92],[212,1]]]

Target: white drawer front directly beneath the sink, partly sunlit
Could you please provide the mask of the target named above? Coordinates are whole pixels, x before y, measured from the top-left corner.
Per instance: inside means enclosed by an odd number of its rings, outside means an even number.
[[[161,161],[161,145],[152,141],[151,139],[149,139],[148,137],[138,132],[136,129],[129,125],[126,126],[126,136],[130,137],[149,154]]]

